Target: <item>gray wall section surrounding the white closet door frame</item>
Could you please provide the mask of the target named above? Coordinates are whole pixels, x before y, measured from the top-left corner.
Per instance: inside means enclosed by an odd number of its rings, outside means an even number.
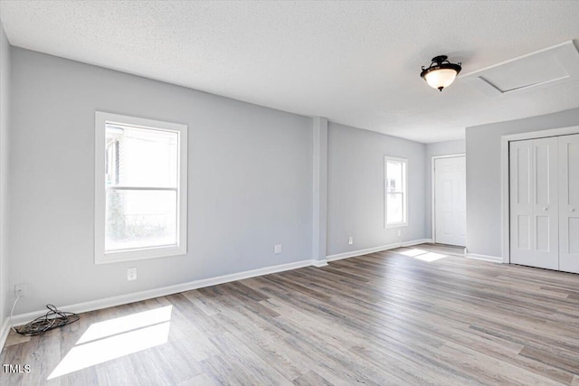
[[[579,108],[466,129],[467,249],[502,256],[500,137],[579,125]]]

